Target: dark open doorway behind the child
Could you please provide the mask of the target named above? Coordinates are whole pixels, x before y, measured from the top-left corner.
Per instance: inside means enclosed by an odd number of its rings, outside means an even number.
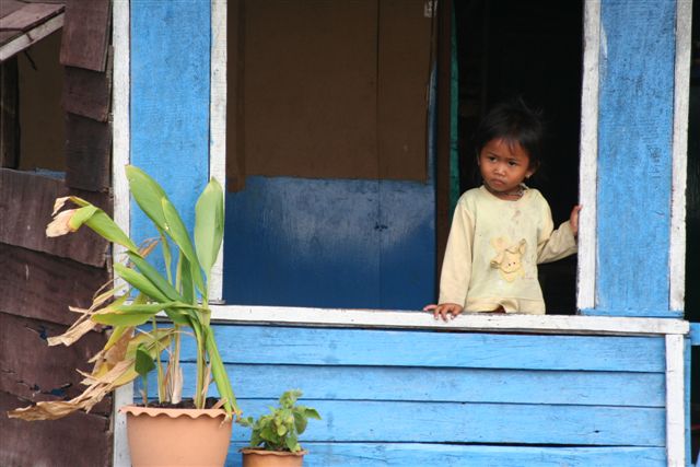
[[[460,190],[480,184],[470,143],[495,103],[521,96],[548,127],[542,166],[529,185],[551,206],[556,224],[579,197],[583,1],[455,0],[459,69]],[[576,259],[541,265],[548,314],[574,314]]]

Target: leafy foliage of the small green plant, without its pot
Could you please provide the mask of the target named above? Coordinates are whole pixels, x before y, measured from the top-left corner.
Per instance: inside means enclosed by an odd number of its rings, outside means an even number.
[[[288,390],[280,397],[279,407],[270,407],[270,413],[257,420],[253,417],[238,419],[243,427],[253,429],[249,448],[292,453],[302,451],[299,435],[306,430],[308,419],[320,420],[320,416],[311,407],[296,405],[301,396],[299,389]]]

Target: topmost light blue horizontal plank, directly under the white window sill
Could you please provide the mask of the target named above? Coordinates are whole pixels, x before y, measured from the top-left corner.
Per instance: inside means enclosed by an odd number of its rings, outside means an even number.
[[[329,311],[329,313],[331,313]],[[664,372],[664,339],[217,326],[226,363]],[[194,355],[185,339],[183,355]],[[254,345],[252,345],[254,343]]]

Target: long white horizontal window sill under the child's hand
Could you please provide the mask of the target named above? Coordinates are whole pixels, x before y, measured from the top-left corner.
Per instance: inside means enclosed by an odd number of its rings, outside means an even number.
[[[666,318],[476,313],[459,315],[445,323],[435,320],[427,312],[246,305],[214,305],[211,308],[212,319],[235,324],[619,336],[686,335],[690,330],[688,322]]]

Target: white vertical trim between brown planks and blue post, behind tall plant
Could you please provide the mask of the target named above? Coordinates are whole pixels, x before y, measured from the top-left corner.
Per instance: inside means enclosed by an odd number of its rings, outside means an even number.
[[[129,27],[130,2],[113,2],[113,46],[114,46],[114,86],[113,86],[113,161],[112,161],[112,185],[114,190],[114,219],[117,224],[127,233],[130,230],[129,220],[129,184],[124,172],[125,165],[129,163],[130,153],[130,39]],[[124,248],[113,245],[113,254],[118,258],[124,254]],[[113,277],[117,277],[113,271]],[[129,467],[131,457],[126,431],[126,416],[119,413],[119,407],[133,401],[133,385],[129,384],[118,388],[114,394],[113,404],[113,466]]]

